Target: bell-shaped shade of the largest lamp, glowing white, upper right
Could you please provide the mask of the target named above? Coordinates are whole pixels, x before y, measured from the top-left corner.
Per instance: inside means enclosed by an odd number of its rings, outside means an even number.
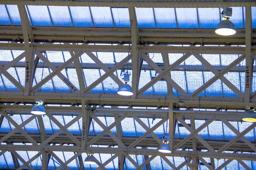
[[[216,34],[229,36],[236,34],[236,27],[230,20],[222,20],[215,30]]]

